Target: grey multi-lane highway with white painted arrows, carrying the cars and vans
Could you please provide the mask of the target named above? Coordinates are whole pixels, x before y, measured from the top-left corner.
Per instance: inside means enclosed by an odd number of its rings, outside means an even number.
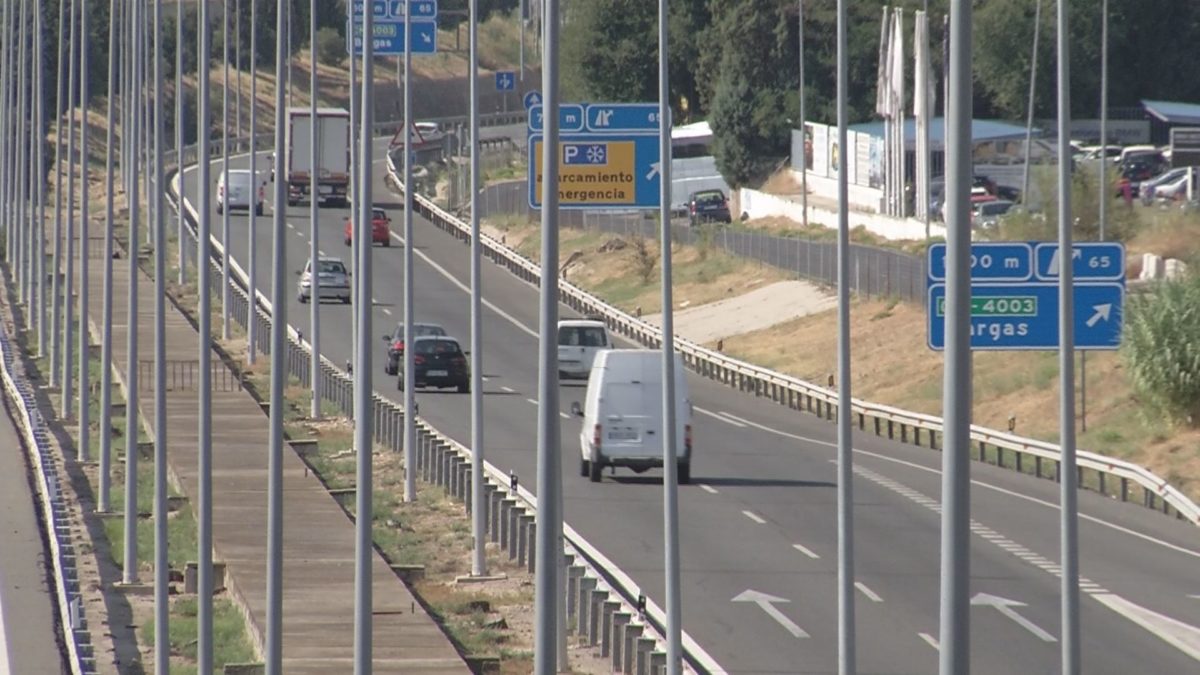
[[[383,157],[382,147],[377,157]],[[244,159],[232,162],[246,166]],[[220,167],[220,162],[216,165]],[[377,205],[398,207],[376,166]],[[216,180],[217,171],[212,172]],[[187,174],[188,195],[196,173]],[[268,192],[270,192],[268,190]],[[319,246],[348,262],[348,211],[322,209]],[[271,264],[268,215],[238,214],[230,250],[245,267],[257,238],[262,291]],[[392,211],[400,243],[402,213]],[[214,215],[214,232],[220,232]],[[308,255],[308,209],[288,213],[289,322],[307,333],[295,300]],[[469,249],[416,216],[416,318],[469,336]],[[373,333],[402,317],[403,249],[373,253]],[[487,458],[529,488],[536,476],[536,289],[485,264],[485,447]],[[564,316],[569,312],[563,310]],[[322,307],[322,351],[350,354],[348,306]],[[383,372],[374,388],[401,400]],[[866,366],[868,364],[856,364]],[[684,629],[728,673],[836,671],[835,429],[690,376],[696,406],[694,485],[679,494]],[[563,384],[562,452],[566,521],[662,604],[660,474],[619,472],[592,484],[578,474],[580,423],[569,418],[581,384]],[[420,392],[437,429],[470,442],[469,396]],[[860,673],[937,670],[940,461],[937,452],[856,435],[854,546]],[[1058,670],[1057,485],[973,465],[971,543],[972,668],[976,673]],[[1200,545],[1196,530],[1159,514],[1080,495],[1088,674],[1195,673],[1200,669]]]

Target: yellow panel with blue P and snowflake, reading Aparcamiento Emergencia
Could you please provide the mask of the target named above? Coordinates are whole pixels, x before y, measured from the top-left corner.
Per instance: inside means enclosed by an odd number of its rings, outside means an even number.
[[[560,205],[636,204],[636,151],[632,141],[560,141],[558,143]],[[541,202],[542,142],[533,142],[535,199]]]

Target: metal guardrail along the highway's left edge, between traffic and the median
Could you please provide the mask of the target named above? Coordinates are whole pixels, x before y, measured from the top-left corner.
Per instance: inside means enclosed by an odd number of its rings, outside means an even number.
[[[232,147],[232,145],[230,145]],[[185,153],[185,157],[187,154]],[[216,155],[214,155],[216,156]],[[178,167],[168,179],[168,199],[179,209]],[[197,237],[198,214],[191,203],[185,203],[187,235]],[[194,249],[193,249],[194,250]],[[212,274],[210,285],[221,291],[221,262],[226,255],[221,241],[212,238],[212,256],[209,261]],[[230,269],[230,316],[245,328],[256,323],[258,348],[269,354],[272,325],[270,299],[256,289],[253,301],[248,288],[248,276],[233,257]],[[253,311],[251,311],[253,307]],[[311,387],[310,359],[312,347],[292,325],[287,327],[287,353],[283,356],[287,372],[301,386]],[[354,413],[353,375],[331,360],[320,357],[322,400],[337,407],[341,414]],[[403,407],[372,394],[373,437],[378,443],[401,452],[403,449]],[[439,432],[425,420],[415,419],[416,448],[415,471],[425,480],[444,486],[448,492],[470,504],[470,449]],[[508,550],[510,560],[524,563],[534,571],[533,542],[536,528],[536,497],[518,477],[505,473],[491,462],[485,462],[485,495],[490,509],[490,534],[493,542]],[[583,539],[574,528],[564,524],[564,558],[568,589],[568,620],[575,622],[575,631],[589,646],[600,647],[601,656],[611,659],[613,673],[658,675],[666,673],[665,613],[614,563]],[[644,609],[638,609],[644,607]],[[684,635],[684,659],[689,673],[724,675],[725,670],[704,650]]]

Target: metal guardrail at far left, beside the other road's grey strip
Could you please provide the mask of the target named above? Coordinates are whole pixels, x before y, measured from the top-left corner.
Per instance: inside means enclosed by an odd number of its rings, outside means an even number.
[[[0,327],[0,380],[13,401],[25,452],[34,465],[37,480],[38,512],[46,539],[50,548],[50,568],[54,575],[54,599],[58,604],[62,643],[72,675],[96,673],[96,658],[88,629],[88,617],[80,593],[76,566],[74,544],[71,542],[71,513],[62,500],[60,485],[65,482],[54,465],[54,448],[46,419],[37,405],[34,387],[13,371],[13,347],[4,327]]]

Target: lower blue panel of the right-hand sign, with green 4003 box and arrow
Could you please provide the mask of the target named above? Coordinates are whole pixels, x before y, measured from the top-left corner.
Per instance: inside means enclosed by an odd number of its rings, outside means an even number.
[[[928,338],[946,348],[946,285],[929,287]],[[1124,286],[1076,283],[1075,348],[1116,350],[1121,345]],[[971,348],[979,351],[1057,350],[1058,286],[978,283],[971,287]]]

